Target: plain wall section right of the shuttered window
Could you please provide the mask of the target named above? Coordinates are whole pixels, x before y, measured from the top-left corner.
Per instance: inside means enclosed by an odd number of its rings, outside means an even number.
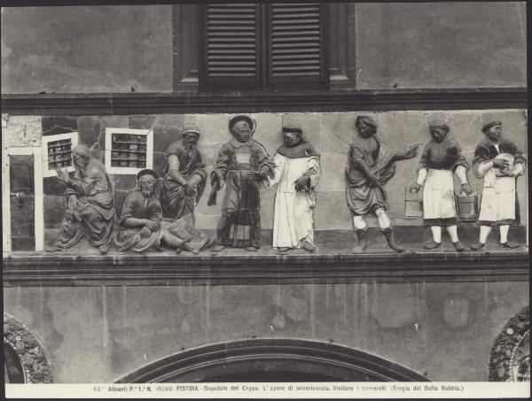
[[[355,7],[358,89],[527,86],[524,2]]]

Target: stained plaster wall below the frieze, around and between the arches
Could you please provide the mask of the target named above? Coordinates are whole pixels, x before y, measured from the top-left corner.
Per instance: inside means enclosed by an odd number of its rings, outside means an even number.
[[[54,382],[113,382],[176,352],[249,338],[337,343],[434,381],[487,382],[528,282],[4,288]]]

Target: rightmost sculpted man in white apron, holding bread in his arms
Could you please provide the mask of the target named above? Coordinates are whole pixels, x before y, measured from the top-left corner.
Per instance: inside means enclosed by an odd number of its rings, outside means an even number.
[[[504,139],[502,122],[489,121],[482,127],[484,141],[474,150],[473,172],[484,180],[479,224],[479,242],[472,245],[474,251],[484,250],[491,227],[500,229],[500,244],[504,248],[518,248],[519,243],[508,241],[510,224],[519,210],[515,196],[515,181],[524,174],[526,159],[517,146]]]

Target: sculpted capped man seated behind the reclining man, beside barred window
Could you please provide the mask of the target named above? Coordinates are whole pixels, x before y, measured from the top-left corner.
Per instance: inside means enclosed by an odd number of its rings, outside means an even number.
[[[166,165],[161,174],[160,204],[162,214],[171,219],[193,216],[205,189],[207,172],[198,150],[200,130],[184,126],[182,140],[171,143],[164,153]]]

